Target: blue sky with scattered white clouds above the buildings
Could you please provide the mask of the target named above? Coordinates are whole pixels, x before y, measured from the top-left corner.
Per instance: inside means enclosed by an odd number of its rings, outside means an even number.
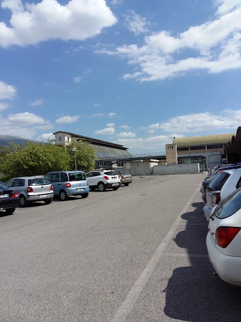
[[[0,5],[0,135],[147,153],[241,125],[240,0]]]

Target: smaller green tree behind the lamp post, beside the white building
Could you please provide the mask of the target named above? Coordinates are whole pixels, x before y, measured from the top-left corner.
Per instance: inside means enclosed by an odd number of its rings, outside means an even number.
[[[76,148],[76,169],[82,170],[85,173],[94,169],[95,160],[97,158],[96,149],[86,141],[77,141],[72,139],[71,143],[66,146],[66,149],[72,160],[72,170],[75,169],[73,147]]]

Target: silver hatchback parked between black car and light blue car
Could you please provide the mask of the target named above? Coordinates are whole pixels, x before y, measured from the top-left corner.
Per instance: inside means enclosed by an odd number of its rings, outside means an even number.
[[[13,178],[6,182],[6,186],[19,194],[20,207],[33,201],[44,201],[48,205],[54,197],[53,186],[44,177]]]

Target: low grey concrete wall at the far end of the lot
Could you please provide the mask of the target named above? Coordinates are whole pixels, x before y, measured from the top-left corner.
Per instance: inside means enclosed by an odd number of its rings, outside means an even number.
[[[194,174],[199,173],[199,163],[187,164],[187,165],[170,165],[170,166],[154,166],[154,175],[180,175],[180,174]]]

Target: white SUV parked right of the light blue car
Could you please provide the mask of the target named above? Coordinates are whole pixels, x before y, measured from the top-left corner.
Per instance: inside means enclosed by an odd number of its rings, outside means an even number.
[[[90,171],[86,174],[86,179],[91,190],[117,190],[121,186],[121,180],[119,179],[117,173],[111,170]]]

